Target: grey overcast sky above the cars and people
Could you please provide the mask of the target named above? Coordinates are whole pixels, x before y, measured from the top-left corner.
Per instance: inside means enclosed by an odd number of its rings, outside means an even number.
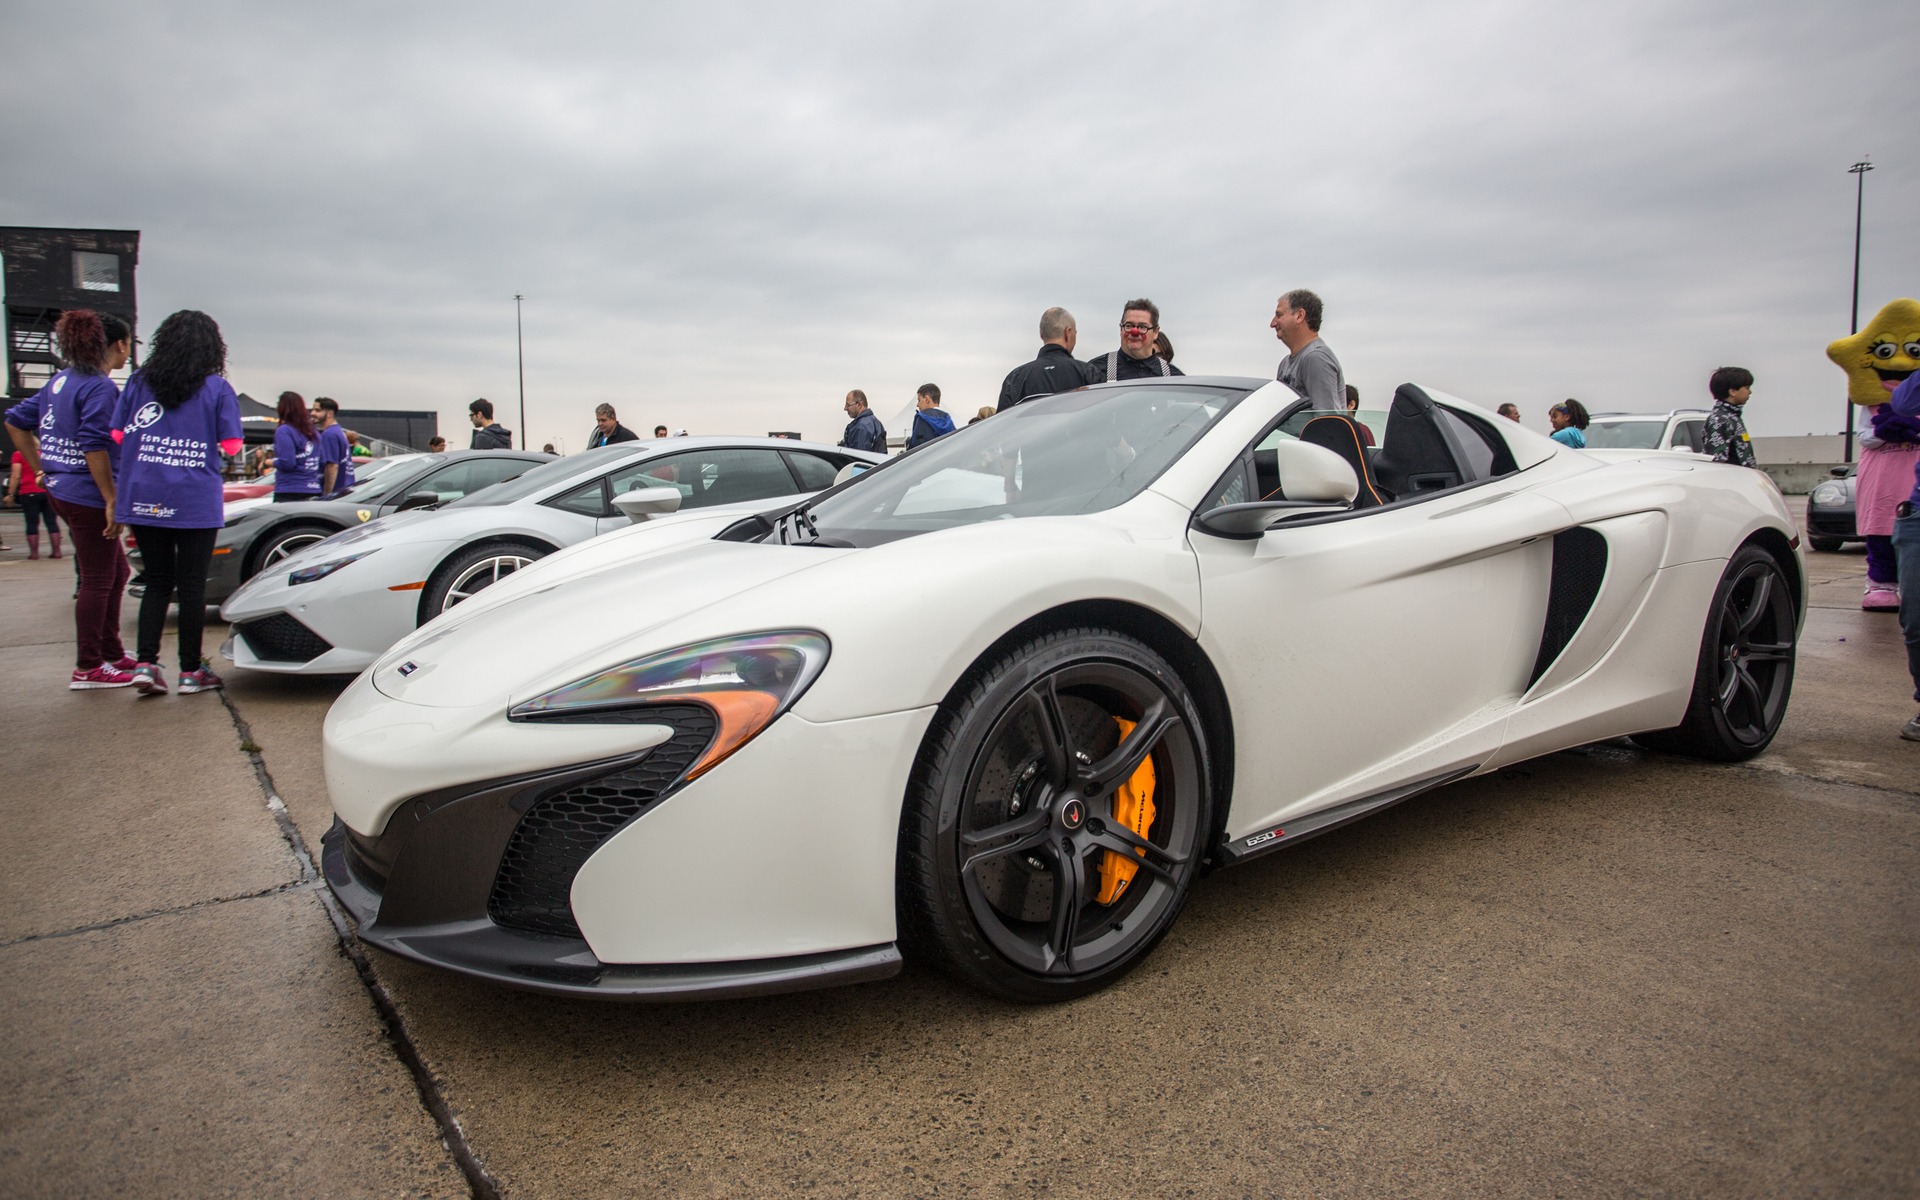
[[[1910,0],[1740,4],[8,4],[0,225],[138,228],[140,334],[342,407],[486,396],[580,449],[803,430],[918,384],[993,403],[1052,303],[1081,357],[1162,307],[1269,376],[1306,286],[1367,405],[1837,430],[1862,321],[1920,296]]]

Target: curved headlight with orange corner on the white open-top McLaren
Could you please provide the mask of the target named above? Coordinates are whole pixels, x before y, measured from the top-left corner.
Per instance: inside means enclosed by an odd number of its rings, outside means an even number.
[[[687,780],[747,745],[793,707],[828,664],[826,634],[785,630],[684,645],[622,662],[597,676],[515,705],[509,720],[647,720],[651,705],[705,705],[718,718]]]

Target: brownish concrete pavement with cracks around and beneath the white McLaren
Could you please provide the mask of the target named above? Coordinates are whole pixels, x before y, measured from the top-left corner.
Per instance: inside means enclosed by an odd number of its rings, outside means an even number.
[[[0,1190],[1916,1194],[1920,745],[1859,551],[1809,566],[1753,764],[1448,787],[1202,881],[1069,1006],[626,1008],[344,954],[338,684],[67,693],[71,576],[0,555]]]

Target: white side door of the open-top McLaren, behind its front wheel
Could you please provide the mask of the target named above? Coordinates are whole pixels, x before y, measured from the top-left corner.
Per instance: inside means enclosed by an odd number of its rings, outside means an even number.
[[[1256,540],[1196,528],[1202,643],[1235,714],[1229,837],[1494,755],[1567,524],[1515,472]]]

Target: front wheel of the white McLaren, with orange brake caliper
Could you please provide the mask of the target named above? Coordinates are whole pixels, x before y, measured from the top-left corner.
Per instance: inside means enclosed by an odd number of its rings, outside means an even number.
[[[1125,739],[1114,718],[1137,722]],[[1114,812],[1142,762],[1156,776],[1144,837]],[[1010,649],[941,707],[914,764],[900,820],[908,952],[1027,1004],[1114,983],[1187,902],[1210,787],[1200,712],[1152,649],[1092,628]],[[1077,899],[1062,906],[1068,889]]]

